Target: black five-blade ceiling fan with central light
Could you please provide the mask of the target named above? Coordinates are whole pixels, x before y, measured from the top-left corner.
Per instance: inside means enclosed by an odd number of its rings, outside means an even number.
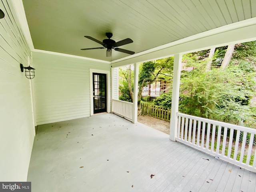
[[[104,48],[107,48],[107,51],[106,51],[106,56],[107,57],[111,57],[112,49],[114,49],[115,51],[131,54],[131,55],[135,53],[133,51],[129,51],[129,50],[126,50],[126,49],[118,48],[119,46],[132,43],[133,40],[131,40],[130,38],[127,38],[127,39],[115,42],[114,40],[110,39],[112,37],[112,35],[113,35],[112,33],[106,33],[106,36],[108,37],[108,39],[104,39],[102,42],[99,41],[99,40],[94,39],[93,37],[84,36],[84,37],[86,37],[86,38],[88,38],[90,40],[93,40],[93,41],[101,44],[103,47],[85,48],[85,49],[81,49],[81,50],[91,50],[91,49],[104,49]]]

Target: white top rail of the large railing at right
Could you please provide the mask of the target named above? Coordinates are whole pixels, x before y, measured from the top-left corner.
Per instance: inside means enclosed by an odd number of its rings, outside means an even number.
[[[223,127],[227,127],[227,128],[232,128],[232,129],[256,134],[256,129],[253,129],[253,128],[248,128],[248,127],[244,127],[244,126],[234,125],[234,124],[211,120],[211,119],[206,119],[206,118],[202,118],[202,117],[196,117],[196,116],[187,115],[184,113],[176,113],[176,114],[178,116],[182,116],[182,117],[186,117],[186,118],[190,118],[190,119],[194,119],[194,120],[198,120],[198,121],[202,121],[202,122],[206,122],[206,123],[210,123],[210,124],[214,124],[214,125],[219,125],[219,126],[223,126]]]

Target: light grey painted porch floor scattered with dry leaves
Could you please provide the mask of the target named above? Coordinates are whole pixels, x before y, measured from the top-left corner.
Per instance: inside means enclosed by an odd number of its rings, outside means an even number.
[[[38,126],[28,181],[32,192],[256,191],[255,173],[114,114]]]

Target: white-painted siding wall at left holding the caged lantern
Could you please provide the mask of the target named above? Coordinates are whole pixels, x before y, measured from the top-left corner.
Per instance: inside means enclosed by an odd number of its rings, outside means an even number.
[[[20,71],[31,52],[12,3],[0,1],[0,181],[26,181],[34,141],[30,81]]]

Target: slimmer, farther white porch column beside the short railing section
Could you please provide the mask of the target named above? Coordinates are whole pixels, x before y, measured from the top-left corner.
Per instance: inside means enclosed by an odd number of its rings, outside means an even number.
[[[138,79],[139,63],[134,63],[132,123],[136,123],[138,119]]]

